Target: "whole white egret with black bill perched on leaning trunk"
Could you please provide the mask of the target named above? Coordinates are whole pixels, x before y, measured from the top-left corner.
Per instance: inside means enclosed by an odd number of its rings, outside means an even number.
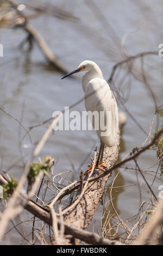
[[[104,113],[103,120],[98,119],[99,129],[97,130],[97,135],[101,141],[101,145],[99,148],[98,159],[96,162],[96,168],[104,171],[102,167],[105,163],[103,163],[103,153],[105,145],[107,147],[112,147],[115,145],[116,136],[118,131],[118,108],[117,103],[112,93],[112,90],[109,84],[104,80],[102,71],[99,69],[99,66],[92,62],[91,60],[84,60],[84,62],[80,63],[78,68],[74,71],[68,73],[61,79],[70,76],[77,72],[87,71],[82,77],[82,86],[85,93],[85,108],[87,112],[95,112],[97,111],[100,114]],[[108,117],[109,113],[109,119]],[[92,121],[92,120],[91,120]],[[103,123],[102,123],[103,122]],[[95,121],[92,121],[92,126],[95,128]],[[109,127],[109,133],[104,135],[104,130],[102,127]],[[87,169],[87,172],[90,172],[92,165]]]

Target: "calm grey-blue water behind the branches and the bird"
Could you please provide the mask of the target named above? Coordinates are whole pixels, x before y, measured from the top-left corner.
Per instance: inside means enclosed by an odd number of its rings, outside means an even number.
[[[26,1],[25,1],[26,2]],[[24,3],[25,3],[24,2]],[[75,69],[84,59],[95,61],[103,71],[104,77],[108,78],[112,65],[122,60],[120,42],[126,33],[132,32],[126,39],[128,54],[136,54],[141,51],[157,51],[158,45],[162,43],[162,8],[161,1],[100,1],[100,11],[105,19],[98,13],[93,12],[93,7],[86,4],[87,1],[48,1],[58,5],[62,9],[71,12],[79,18],[78,21],[66,21],[56,19],[49,15],[41,15],[31,20],[31,24],[39,30],[49,47],[65,64],[68,70]],[[98,1],[94,1],[98,4]],[[35,1],[40,3],[40,1]],[[42,2],[43,3],[43,2]],[[46,1],[47,3],[47,1]],[[94,6],[94,5],[93,5]],[[96,10],[96,9],[95,9]],[[100,20],[99,20],[100,18]],[[45,22],[46,21],[46,22]],[[109,29],[107,29],[109,28]],[[65,106],[79,100],[84,94],[80,82],[81,75],[74,79],[61,81],[62,74],[49,67],[42,53],[34,45],[32,52],[26,54],[18,50],[18,44],[26,36],[20,29],[4,30],[0,32],[0,42],[4,46],[4,57],[1,58],[1,107],[18,120],[24,127],[29,127],[52,117],[53,111],[62,110]],[[147,62],[148,60],[148,62]],[[155,60],[155,63],[153,63]],[[7,63],[6,63],[7,62]],[[159,64],[160,62],[160,64]],[[6,64],[5,64],[6,63]],[[162,63],[160,57],[148,58],[146,74],[152,89],[156,94],[158,106],[162,103]],[[136,62],[138,71],[141,63]],[[121,79],[125,70],[118,70],[115,76],[117,87],[121,85]],[[153,78],[152,78],[153,77]],[[149,131],[149,126],[155,111],[151,95],[147,92],[143,83],[135,81],[133,77],[127,78],[122,84],[121,95],[128,95],[126,108],[134,118],[141,124],[143,129]],[[119,106],[120,108],[120,106]],[[120,108],[123,111],[123,108]],[[73,110],[85,110],[84,102]],[[23,162],[30,156],[32,148],[29,138],[23,141],[22,153],[18,147],[20,138],[24,135],[23,129],[17,122],[4,113],[1,114],[0,148],[1,169],[7,170],[20,159],[23,160],[9,170],[17,179],[22,173]],[[122,130],[120,160],[126,156],[134,147],[140,146],[146,135],[127,117],[127,124]],[[161,120],[160,120],[161,123]],[[45,132],[46,126],[32,130],[30,136],[33,143],[40,140]],[[153,130],[155,130],[155,123]],[[71,179],[79,176],[79,167],[86,169],[90,158],[93,156],[95,146],[99,142],[95,131],[58,131],[51,135],[43,147],[41,156],[51,155],[57,162],[55,172],[73,169]],[[90,155],[89,155],[90,154]],[[85,160],[86,159],[86,160]],[[85,163],[80,164],[85,160]],[[152,151],[148,151],[139,157],[141,168],[151,167],[155,170],[157,159]],[[134,167],[134,163],[127,166]],[[115,182],[116,186],[127,186],[137,184],[135,170],[118,170],[120,174]],[[117,171],[109,180],[111,183]],[[149,184],[153,176],[146,176]],[[139,177],[142,187],[142,200],[149,200],[145,182]],[[158,186],[161,181],[155,180],[153,191],[158,195]],[[123,220],[131,217],[139,211],[139,189],[137,186],[117,188],[114,192],[114,204]],[[109,200],[109,198],[106,198]],[[100,228],[100,220],[103,208],[99,206],[89,226],[92,231]],[[21,219],[28,220],[29,214],[24,211]],[[15,223],[18,220],[15,221]],[[12,227],[12,225],[10,226]],[[30,230],[30,229],[29,229]],[[27,233],[29,231],[27,229]],[[5,236],[4,243],[19,243],[20,237],[13,232]]]

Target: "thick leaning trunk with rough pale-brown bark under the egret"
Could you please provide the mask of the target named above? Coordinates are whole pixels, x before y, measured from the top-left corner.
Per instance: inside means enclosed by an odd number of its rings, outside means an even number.
[[[119,114],[119,129],[118,135],[116,139],[116,144],[112,148],[105,147],[104,149],[104,157],[103,160],[106,162],[106,167],[109,169],[112,167],[118,159],[118,153],[120,151],[120,129],[123,124],[126,123],[126,115],[124,113]],[[102,171],[94,171],[92,177],[98,177],[99,173],[101,174]],[[87,186],[87,190],[84,193],[82,200],[77,204],[77,206],[68,211],[64,215],[65,224],[76,227],[78,229],[86,229],[89,225],[90,221],[93,218],[97,210],[98,204],[101,202],[106,181],[110,177],[111,173],[104,176],[101,179],[96,181],[89,182]],[[79,196],[76,197],[76,199]],[[75,241],[75,244],[78,244],[80,241]]]

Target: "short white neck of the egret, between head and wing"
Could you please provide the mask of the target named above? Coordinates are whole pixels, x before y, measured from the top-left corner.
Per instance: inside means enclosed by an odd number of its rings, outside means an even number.
[[[103,78],[102,71],[98,66],[95,66],[92,68],[92,70],[87,71],[84,76],[82,77],[82,87],[84,90],[84,93],[86,91],[88,83],[93,79],[93,78]]]

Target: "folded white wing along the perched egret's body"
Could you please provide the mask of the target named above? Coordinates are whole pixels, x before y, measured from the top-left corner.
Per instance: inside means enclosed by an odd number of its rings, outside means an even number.
[[[88,83],[85,92],[85,107],[86,111],[97,111],[99,116],[102,112],[104,113],[104,119],[102,119],[104,121],[102,123],[102,120],[99,120],[99,131],[97,131],[97,133],[99,137],[103,137],[101,136],[103,130],[100,128],[102,126],[108,127],[109,136],[105,136],[108,137],[108,142],[105,141],[105,144],[113,144],[118,129],[118,109],[114,94],[112,93],[109,84],[104,79],[94,78]],[[94,120],[92,121],[92,125],[95,128]]]

